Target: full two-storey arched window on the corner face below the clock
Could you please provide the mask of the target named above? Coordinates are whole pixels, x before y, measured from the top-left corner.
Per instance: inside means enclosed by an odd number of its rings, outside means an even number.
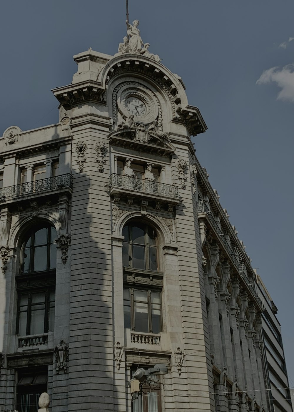
[[[159,333],[162,330],[163,274],[158,272],[156,230],[143,222],[133,221],[124,227],[122,234],[124,327],[131,333]],[[137,338],[131,335],[131,339]]]

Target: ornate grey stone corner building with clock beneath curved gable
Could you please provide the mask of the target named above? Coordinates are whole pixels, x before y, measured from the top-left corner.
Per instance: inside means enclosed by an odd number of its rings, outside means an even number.
[[[0,406],[273,411],[255,273],[190,139],[205,122],[137,26],[74,56],[58,123],[0,139]]]

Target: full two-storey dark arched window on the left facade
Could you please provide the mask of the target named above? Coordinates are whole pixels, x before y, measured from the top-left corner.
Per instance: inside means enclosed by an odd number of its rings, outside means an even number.
[[[16,275],[16,333],[37,335],[54,329],[56,230],[42,225],[25,236]]]

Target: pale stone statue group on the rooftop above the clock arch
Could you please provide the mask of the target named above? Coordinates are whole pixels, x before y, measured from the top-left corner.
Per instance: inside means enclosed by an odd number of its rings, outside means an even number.
[[[141,54],[142,56],[149,57],[155,61],[161,61],[157,54],[149,52],[149,43],[143,43],[140,36],[140,30],[138,29],[139,20],[134,20],[133,24],[128,23],[126,20],[127,35],[124,36],[123,42],[119,43],[117,53],[114,56],[121,54]]]

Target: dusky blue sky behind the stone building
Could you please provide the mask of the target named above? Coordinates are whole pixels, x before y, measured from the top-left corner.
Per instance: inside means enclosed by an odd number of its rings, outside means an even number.
[[[1,9],[0,133],[56,123],[50,89],[71,82],[72,56],[114,54],[126,31],[125,0],[10,0]],[[208,125],[196,155],[279,309],[294,386],[294,2],[129,0],[129,13]]]

